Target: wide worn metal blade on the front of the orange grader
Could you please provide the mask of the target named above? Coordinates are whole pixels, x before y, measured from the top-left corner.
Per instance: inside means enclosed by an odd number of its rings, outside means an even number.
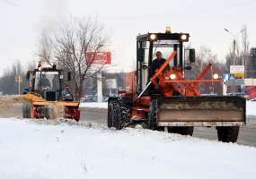
[[[234,126],[245,124],[245,98],[226,96],[157,99],[158,126]]]

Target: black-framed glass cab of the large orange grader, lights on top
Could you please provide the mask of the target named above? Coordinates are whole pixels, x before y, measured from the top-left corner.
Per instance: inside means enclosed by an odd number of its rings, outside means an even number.
[[[166,30],[165,33],[147,33],[137,36],[137,94],[146,88],[150,81],[150,66],[155,59],[155,53],[160,51],[163,58],[168,58],[173,51],[177,55],[169,64],[170,67],[176,67],[179,71],[184,71],[184,47],[183,43],[188,42],[189,33],[171,33]],[[190,63],[195,62],[195,50],[190,49]],[[187,70],[189,68],[186,67]]]

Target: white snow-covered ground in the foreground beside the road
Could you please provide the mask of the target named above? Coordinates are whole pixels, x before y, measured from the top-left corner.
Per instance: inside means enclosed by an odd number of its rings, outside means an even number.
[[[144,129],[0,119],[0,178],[255,178],[256,149]]]

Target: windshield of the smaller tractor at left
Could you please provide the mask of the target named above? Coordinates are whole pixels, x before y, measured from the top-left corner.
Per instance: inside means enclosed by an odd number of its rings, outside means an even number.
[[[58,72],[36,72],[35,90],[59,90]]]

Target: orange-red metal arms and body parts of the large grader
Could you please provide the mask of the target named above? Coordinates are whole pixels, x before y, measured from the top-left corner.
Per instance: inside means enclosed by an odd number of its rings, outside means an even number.
[[[154,76],[150,79],[150,81],[154,84],[155,87],[158,87],[162,90],[163,97],[172,97],[173,94],[179,93],[181,96],[200,96],[201,90],[199,87],[199,83],[209,82],[216,83],[222,82],[221,79],[203,79],[204,75],[207,72],[212,70],[212,64],[207,64],[202,72],[200,72],[199,76],[192,80],[185,79],[182,69],[180,67],[172,67],[168,72],[164,72],[167,65],[170,64],[174,56],[177,54],[176,51],[170,55],[165,63],[160,67],[160,69],[156,70]],[[172,80],[170,78],[171,74],[176,75],[176,79]],[[136,78],[136,77],[135,77]],[[134,79],[135,79],[134,78]],[[156,81],[158,79],[158,81]],[[131,94],[132,91],[132,94]],[[133,85],[132,90],[124,90],[121,92],[126,97],[130,97],[134,99],[131,117],[138,116],[141,118],[145,118],[149,107],[151,105],[151,101],[154,99],[154,95],[150,96],[142,96],[141,98],[137,98],[136,85]],[[159,97],[159,96],[158,96]]]

